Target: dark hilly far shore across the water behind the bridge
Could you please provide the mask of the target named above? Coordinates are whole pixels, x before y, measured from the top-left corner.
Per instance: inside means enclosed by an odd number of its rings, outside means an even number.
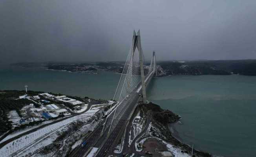
[[[60,70],[75,73],[97,73],[111,71],[122,73],[123,62],[94,63],[15,63],[12,66],[46,67],[49,70]],[[145,64],[144,71],[149,68]],[[173,75],[248,75],[256,76],[256,60],[197,60],[197,61],[160,61],[157,62],[157,77]]]

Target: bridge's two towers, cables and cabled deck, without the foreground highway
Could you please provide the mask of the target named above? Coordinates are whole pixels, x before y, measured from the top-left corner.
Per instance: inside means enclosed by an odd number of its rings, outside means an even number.
[[[108,114],[102,133],[108,131],[108,135],[113,131],[121,117],[129,106],[135,108],[132,102],[138,100],[142,94],[143,103],[146,103],[146,85],[155,74],[155,52],[153,52],[149,68],[144,73],[144,55],[141,47],[141,37],[133,31],[132,46],[126,58],[123,73],[117,85],[113,100],[117,102]],[[145,75],[146,74],[146,75]]]

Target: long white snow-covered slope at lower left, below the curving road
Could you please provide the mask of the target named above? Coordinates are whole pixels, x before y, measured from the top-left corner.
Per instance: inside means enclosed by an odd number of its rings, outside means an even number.
[[[6,144],[0,149],[1,157],[18,157],[33,153],[36,150],[47,146],[57,138],[57,131],[64,131],[68,128],[66,125],[76,120],[88,120],[99,110],[88,110],[87,112],[62,120],[55,124],[46,126],[33,133],[20,137],[13,142]]]

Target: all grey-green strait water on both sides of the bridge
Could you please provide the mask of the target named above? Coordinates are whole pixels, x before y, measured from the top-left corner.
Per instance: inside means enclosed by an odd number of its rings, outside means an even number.
[[[0,89],[51,91],[112,99],[119,74],[97,75],[43,68],[0,70]],[[225,157],[256,155],[256,77],[172,76],[153,79],[148,99],[178,113],[177,137],[196,149]]]

